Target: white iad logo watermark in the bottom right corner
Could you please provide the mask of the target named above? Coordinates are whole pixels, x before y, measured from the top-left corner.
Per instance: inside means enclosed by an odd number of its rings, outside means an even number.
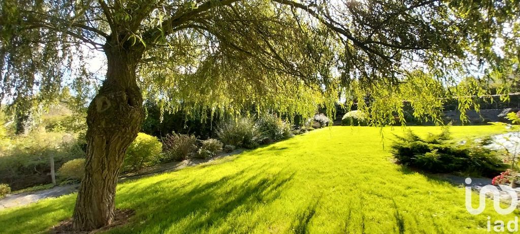
[[[478,207],[477,207],[477,209],[474,209],[473,205],[471,204],[471,202],[472,202],[472,199],[471,199],[472,190],[471,190],[471,186],[470,186],[471,178],[466,178],[465,183],[467,185],[465,188],[465,190],[466,190],[466,210],[467,210],[467,212],[470,212],[470,214],[472,214],[472,215],[478,215],[478,214],[482,213],[484,211],[484,209],[486,209],[486,194],[489,194],[489,193],[493,194],[493,207],[495,207],[495,211],[498,214],[501,214],[501,215],[511,214],[516,209],[516,206],[518,205],[518,196],[516,194],[516,191],[513,188],[511,188],[510,186],[499,185],[500,189],[503,192],[506,192],[511,197],[511,203],[510,203],[509,207],[503,209],[500,206],[500,190],[496,186],[486,185],[486,186],[482,187],[482,189],[480,189],[479,197],[478,197]],[[507,225],[504,223],[503,220],[496,220],[493,223],[493,231],[501,232],[501,231],[505,231],[506,229],[510,232],[518,231],[518,217],[515,217],[514,220],[510,220],[507,223]],[[490,216],[488,216],[487,230],[491,231],[491,217]]]

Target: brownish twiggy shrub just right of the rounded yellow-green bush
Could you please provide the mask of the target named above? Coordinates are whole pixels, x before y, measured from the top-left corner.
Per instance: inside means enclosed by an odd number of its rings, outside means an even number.
[[[186,160],[197,152],[198,140],[193,135],[173,133],[164,137],[162,141],[164,161]]]

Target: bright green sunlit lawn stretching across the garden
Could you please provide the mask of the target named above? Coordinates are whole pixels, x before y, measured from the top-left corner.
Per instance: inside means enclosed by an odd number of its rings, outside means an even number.
[[[439,127],[411,127],[426,134]],[[116,206],[136,211],[110,233],[486,233],[498,215],[474,216],[464,189],[395,165],[403,128],[331,127],[234,157],[129,181]],[[503,132],[452,127],[454,137]],[[476,194],[473,203],[476,207]],[[0,212],[0,232],[35,233],[72,214],[75,194]],[[518,215],[516,212],[514,215]]]

